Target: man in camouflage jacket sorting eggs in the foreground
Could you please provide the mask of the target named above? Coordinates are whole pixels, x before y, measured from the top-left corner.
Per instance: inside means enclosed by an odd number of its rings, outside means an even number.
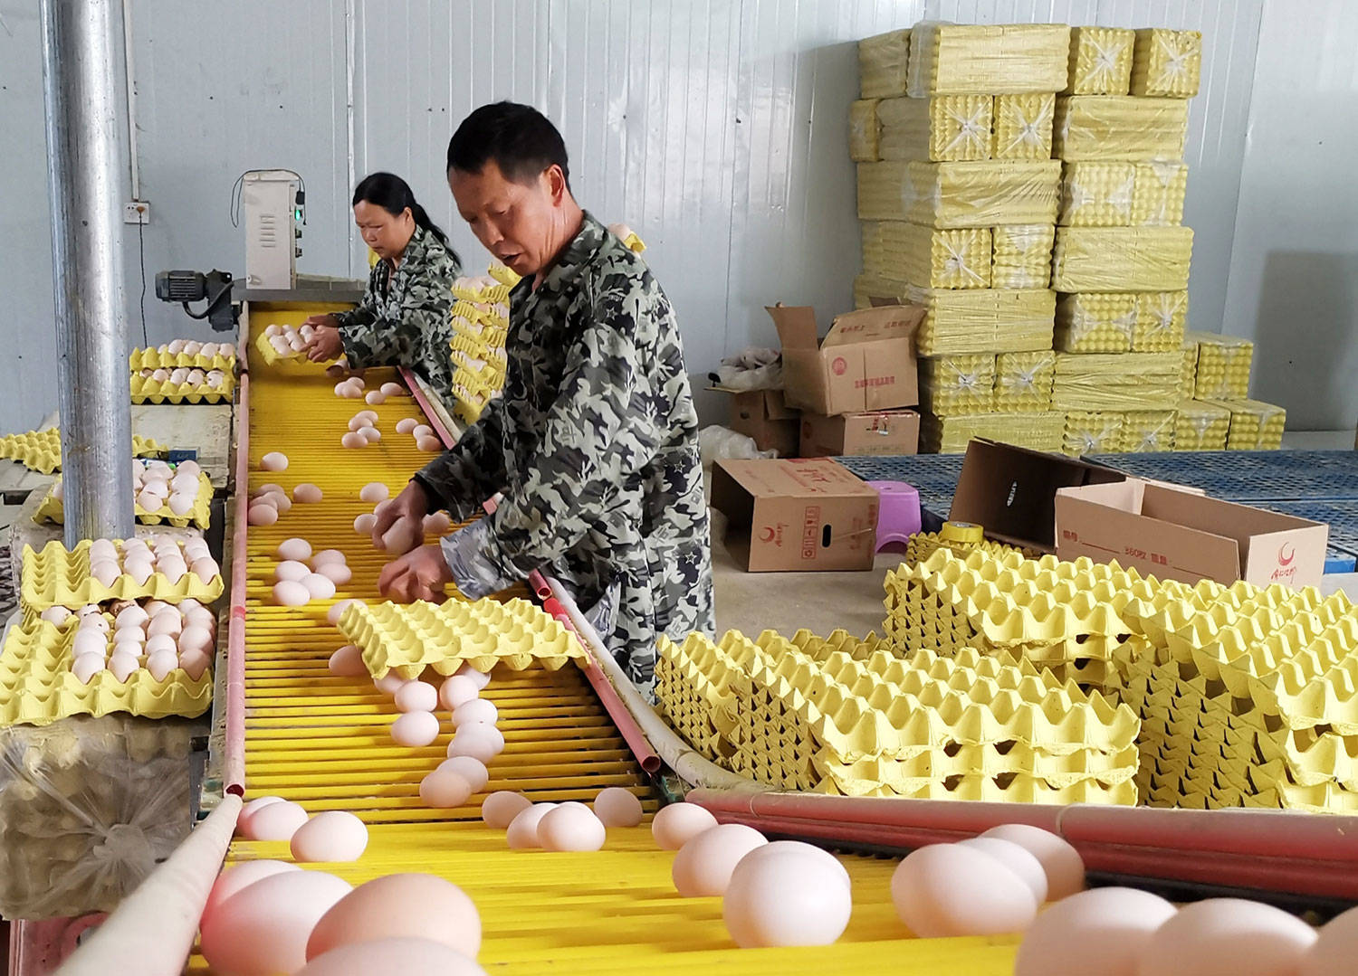
[[[477,109],[448,144],[448,186],[509,295],[504,396],[383,509],[378,542],[445,508],[497,510],[390,563],[394,599],[470,599],[542,567],[650,688],[656,638],[713,630],[698,418],[674,309],[645,263],[580,209],[565,143],[539,111]],[[388,546],[390,548],[390,546]]]

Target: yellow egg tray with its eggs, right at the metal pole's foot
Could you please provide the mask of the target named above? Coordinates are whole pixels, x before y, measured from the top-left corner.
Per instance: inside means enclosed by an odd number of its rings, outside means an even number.
[[[223,589],[221,569],[201,538],[87,539],[75,550],[56,540],[38,551],[23,547],[19,596],[34,611],[143,597],[212,603]]]

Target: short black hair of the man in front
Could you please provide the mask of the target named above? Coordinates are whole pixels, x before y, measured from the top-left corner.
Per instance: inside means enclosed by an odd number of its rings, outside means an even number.
[[[448,168],[481,172],[494,162],[507,179],[527,183],[555,163],[570,186],[566,143],[531,105],[494,102],[462,119],[448,140]]]

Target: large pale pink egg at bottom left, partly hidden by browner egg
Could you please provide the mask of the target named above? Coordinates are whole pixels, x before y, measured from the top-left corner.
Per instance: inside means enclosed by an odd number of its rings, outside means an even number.
[[[293,973],[307,964],[307,938],[349,882],[325,871],[282,871],[225,899],[202,923],[200,947],[227,976]]]

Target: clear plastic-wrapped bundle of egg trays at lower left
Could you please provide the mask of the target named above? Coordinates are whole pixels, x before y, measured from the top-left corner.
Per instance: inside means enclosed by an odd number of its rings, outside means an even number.
[[[183,719],[77,717],[0,729],[0,915],[113,911],[187,836]]]

